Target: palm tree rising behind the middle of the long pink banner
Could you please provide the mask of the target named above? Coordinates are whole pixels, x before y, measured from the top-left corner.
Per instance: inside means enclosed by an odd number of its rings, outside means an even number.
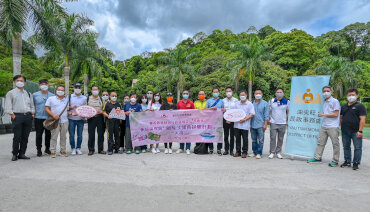
[[[189,61],[196,56],[196,52],[187,52],[183,46],[169,50],[168,55],[162,57],[164,66],[159,71],[168,71],[170,80],[177,83],[177,101],[180,101],[180,91],[184,89],[185,74],[195,76],[193,66]]]

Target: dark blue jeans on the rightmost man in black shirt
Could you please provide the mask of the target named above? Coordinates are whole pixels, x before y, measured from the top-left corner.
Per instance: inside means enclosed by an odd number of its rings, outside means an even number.
[[[353,163],[361,163],[361,156],[362,156],[362,137],[356,137],[357,132],[346,132],[342,130],[342,142],[343,142],[343,152],[344,152],[344,160],[351,162],[351,140],[353,141],[353,146],[355,147],[354,150],[354,157]]]

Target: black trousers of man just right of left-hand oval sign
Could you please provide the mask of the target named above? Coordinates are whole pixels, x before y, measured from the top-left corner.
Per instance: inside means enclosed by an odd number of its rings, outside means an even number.
[[[89,152],[95,152],[95,130],[98,132],[98,152],[104,150],[104,118],[99,114],[87,120]]]

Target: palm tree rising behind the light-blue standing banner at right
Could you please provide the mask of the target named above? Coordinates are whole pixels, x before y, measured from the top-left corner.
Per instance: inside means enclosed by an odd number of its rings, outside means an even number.
[[[344,57],[329,56],[323,59],[316,68],[317,74],[330,75],[330,84],[333,86],[334,95],[342,98],[346,88],[355,87],[359,67]]]

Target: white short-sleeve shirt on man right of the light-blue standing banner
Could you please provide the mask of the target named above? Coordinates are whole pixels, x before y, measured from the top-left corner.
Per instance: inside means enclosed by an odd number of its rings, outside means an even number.
[[[329,99],[326,99],[324,101],[324,114],[331,114],[334,113],[334,111],[340,111],[340,104],[339,101],[332,96]],[[340,122],[340,115],[338,113],[338,117],[335,118],[329,118],[325,117],[322,120],[322,126],[327,128],[337,128],[339,127]]]

